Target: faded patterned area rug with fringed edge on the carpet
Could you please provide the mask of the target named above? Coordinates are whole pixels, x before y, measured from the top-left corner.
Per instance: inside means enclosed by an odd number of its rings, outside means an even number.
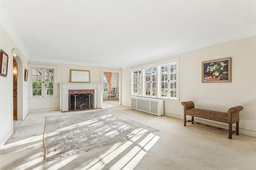
[[[55,160],[157,131],[108,110],[46,116],[45,160]]]

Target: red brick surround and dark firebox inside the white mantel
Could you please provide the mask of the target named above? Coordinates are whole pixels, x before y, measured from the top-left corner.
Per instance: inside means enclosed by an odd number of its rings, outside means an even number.
[[[94,90],[68,90],[68,110],[94,109]]]

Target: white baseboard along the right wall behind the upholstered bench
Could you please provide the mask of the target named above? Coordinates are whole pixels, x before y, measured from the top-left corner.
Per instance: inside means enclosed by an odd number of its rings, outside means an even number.
[[[164,115],[168,116],[168,117],[173,117],[173,118],[176,118],[176,119],[184,120],[184,115],[177,115],[177,114],[168,113],[168,112],[164,112]],[[191,117],[191,116],[186,116],[186,117],[187,117],[187,120],[188,120],[189,117]],[[200,123],[205,123],[205,124],[208,124],[208,125],[228,129],[228,125],[226,123],[216,122],[216,121],[211,121],[211,120],[207,120],[207,119],[194,117],[194,121],[197,121],[197,120],[199,120]],[[236,124],[233,124],[233,127],[236,127]],[[239,134],[243,134],[243,135],[247,135],[247,136],[251,136],[251,137],[256,137],[256,131],[254,131],[252,129],[248,129],[246,127],[242,127],[242,126],[239,126]]]

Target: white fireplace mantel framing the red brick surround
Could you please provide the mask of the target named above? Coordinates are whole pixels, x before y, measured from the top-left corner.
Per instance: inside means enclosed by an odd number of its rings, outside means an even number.
[[[94,108],[100,108],[100,83],[58,83],[60,111],[68,111],[68,90],[94,90]]]

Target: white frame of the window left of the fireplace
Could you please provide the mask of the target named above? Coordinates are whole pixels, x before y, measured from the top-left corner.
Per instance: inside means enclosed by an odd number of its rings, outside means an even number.
[[[53,95],[52,96],[44,96],[43,93],[43,88],[42,88],[42,96],[33,96],[33,80],[32,80],[32,70],[33,68],[43,68],[43,69],[51,69],[54,70],[54,75],[53,75]],[[53,98],[53,97],[58,97],[58,83],[57,83],[57,66],[54,65],[40,65],[40,64],[30,64],[29,67],[29,77],[28,78],[28,83],[29,83],[29,97],[31,98]],[[43,76],[43,75],[42,75]],[[42,85],[43,86],[43,85]]]

